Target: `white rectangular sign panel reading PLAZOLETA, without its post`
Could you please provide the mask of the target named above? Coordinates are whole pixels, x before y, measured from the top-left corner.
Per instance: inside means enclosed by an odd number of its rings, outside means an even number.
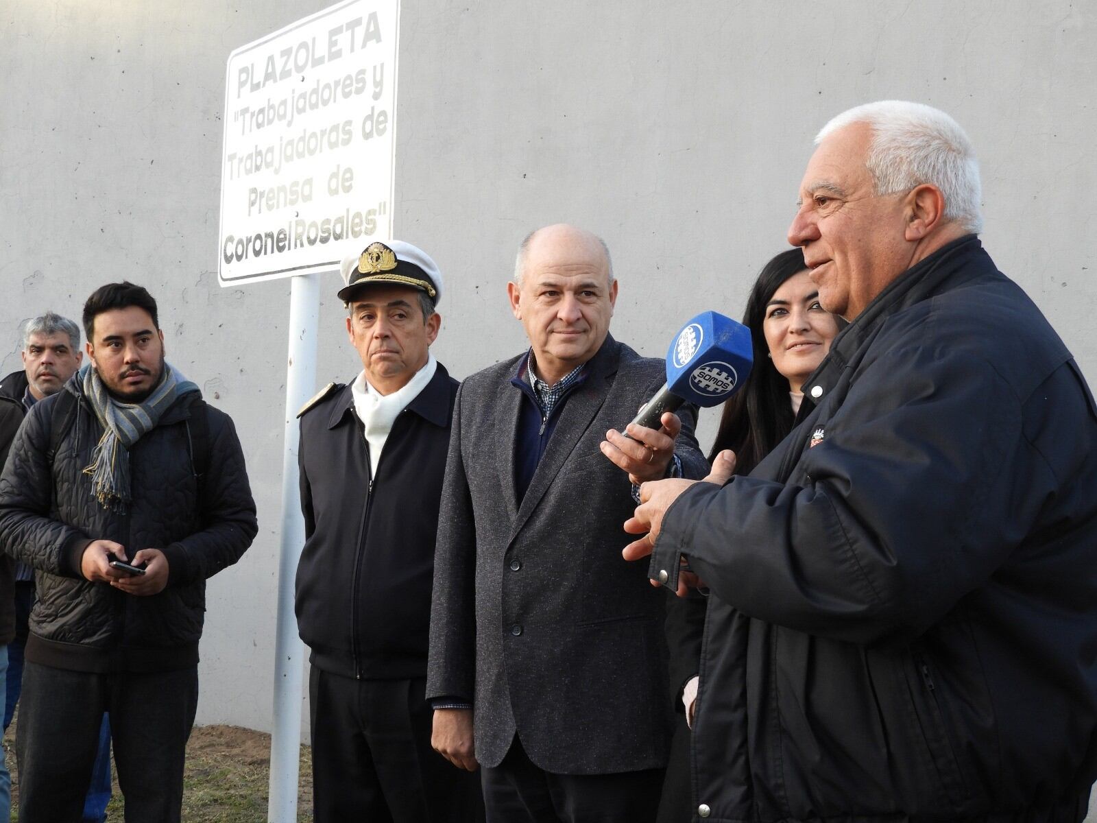
[[[399,0],[349,0],[228,58],[222,285],[339,267],[392,237]]]

